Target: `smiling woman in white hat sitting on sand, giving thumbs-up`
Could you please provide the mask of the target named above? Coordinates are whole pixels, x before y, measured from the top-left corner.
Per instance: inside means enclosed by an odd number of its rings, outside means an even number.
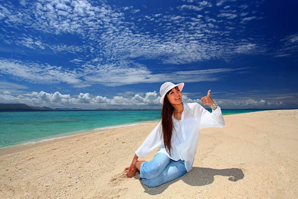
[[[202,98],[204,105],[210,105],[212,113],[198,103],[182,103],[184,83],[174,85],[166,82],[160,87],[161,121],[136,151],[127,177],[140,172],[142,184],[157,187],[190,172],[199,140],[199,130],[207,127],[224,127],[221,108],[208,95]],[[150,161],[138,161],[160,146]]]

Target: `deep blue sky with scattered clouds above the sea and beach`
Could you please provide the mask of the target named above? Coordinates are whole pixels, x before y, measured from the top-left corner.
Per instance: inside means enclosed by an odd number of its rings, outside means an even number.
[[[298,1],[0,0],[0,103],[298,108]],[[206,107],[206,106],[205,106]]]

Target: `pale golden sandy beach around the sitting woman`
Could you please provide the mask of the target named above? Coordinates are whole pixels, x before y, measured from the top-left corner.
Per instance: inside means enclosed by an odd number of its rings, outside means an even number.
[[[138,173],[127,178],[124,168],[158,122],[0,149],[0,198],[298,198],[298,110],[224,120],[224,128],[200,131],[192,171],[157,188]]]

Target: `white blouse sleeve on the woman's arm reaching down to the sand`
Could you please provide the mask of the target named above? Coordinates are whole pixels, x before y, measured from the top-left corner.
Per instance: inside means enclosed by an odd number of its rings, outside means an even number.
[[[143,144],[139,147],[139,149],[136,151],[136,155],[139,158],[143,158],[145,155],[147,155],[150,151],[155,149],[157,146],[161,145],[161,121],[157,124],[157,126],[151,131],[149,136],[146,138],[146,140],[143,142]]]

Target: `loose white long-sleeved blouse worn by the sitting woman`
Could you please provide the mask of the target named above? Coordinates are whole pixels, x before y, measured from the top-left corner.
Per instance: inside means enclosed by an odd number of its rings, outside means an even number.
[[[183,105],[181,120],[174,119],[172,116],[174,129],[171,139],[171,155],[164,147],[160,121],[136,151],[138,157],[143,158],[161,145],[156,153],[164,153],[174,161],[184,160],[187,172],[191,171],[199,141],[199,130],[208,127],[223,128],[224,117],[219,106],[211,113],[198,103],[183,103]]]

